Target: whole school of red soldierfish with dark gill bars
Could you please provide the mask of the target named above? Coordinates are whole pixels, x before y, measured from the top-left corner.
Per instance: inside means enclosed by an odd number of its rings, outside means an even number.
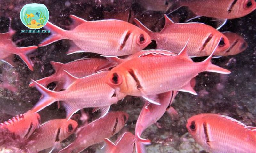
[[[218,25],[223,26],[227,19],[243,17],[256,9],[254,0],[201,1],[205,7],[197,7],[198,0],[178,0],[171,11],[188,6],[195,13],[194,18],[216,18]],[[0,123],[0,130],[24,140],[26,145],[22,149],[29,152],[48,149],[49,152],[79,153],[93,144],[105,142],[106,153],[146,153],[146,145],[151,141],[141,137],[143,131],[165,112],[177,117],[171,106],[177,93],[197,95],[193,89],[194,77],[201,72],[230,74],[229,70],[212,64],[212,57],[236,55],[248,46],[239,34],[219,32],[220,27],[216,29],[203,23],[174,23],[168,14],[163,16],[165,25],[159,32],[149,30],[136,18],[137,26],[116,19],[86,21],[75,15],[70,18],[73,20],[70,30],[48,22],[44,28],[50,30],[51,35],[38,47],[68,39],[71,45],[67,54],[90,52],[102,58],[82,58],[69,63],[52,61],[54,74],[31,80],[29,86],[42,94],[39,101],[24,114]],[[33,64],[26,55],[38,47],[16,47],[11,39],[14,33],[11,28],[7,33],[0,33],[0,59],[15,66],[12,60],[16,54],[33,71]],[[143,50],[151,40],[156,41],[156,49]],[[207,57],[201,62],[191,59],[201,56]],[[47,86],[52,82],[56,86],[49,90]],[[112,142],[109,138],[125,126],[129,115],[110,111],[110,107],[127,95],[145,99],[145,104],[135,131],[124,132]],[[41,124],[38,112],[54,102],[65,108],[66,118]],[[93,108],[93,112],[100,110],[101,117],[79,125],[72,116],[83,108]],[[246,126],[231,117],[198,114],[187,120],[186,127],[207,152],[255,153],[256,127]],[[63,147],[61,142],[72,134],[74,141]]]

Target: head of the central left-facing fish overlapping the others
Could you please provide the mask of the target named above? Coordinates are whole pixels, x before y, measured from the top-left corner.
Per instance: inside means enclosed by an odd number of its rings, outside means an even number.
[[[106,76],[106,83],[116,90],[125,94],[131,94],[137,89],[137,83],[125,68],[125,62],[113,68]]]

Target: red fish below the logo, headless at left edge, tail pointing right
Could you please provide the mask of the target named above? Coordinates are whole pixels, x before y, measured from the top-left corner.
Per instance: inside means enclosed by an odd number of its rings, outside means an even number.
[[[17,47],[12,42],[12,35],[15,33],[11,28],[7,33],[0,33],[0,60],[4,61],[14,67],[13,58],[14,54],[27,64],[28,68],[33,71],[33,64],[29,61],[27,54],[34,51],[37,46]]]

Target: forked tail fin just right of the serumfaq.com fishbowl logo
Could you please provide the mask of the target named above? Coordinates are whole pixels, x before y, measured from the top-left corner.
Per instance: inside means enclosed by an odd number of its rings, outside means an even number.
[[[60,27],[52,24],[51,22],[47,22],[44,28],[46,28],[47,30],[50,30],[52,35],[50,35],[48,38],[43,40],[38,46],[46,46],[58,40],[64,39],[62,34],[65,33],[66,30],[61,29]]]

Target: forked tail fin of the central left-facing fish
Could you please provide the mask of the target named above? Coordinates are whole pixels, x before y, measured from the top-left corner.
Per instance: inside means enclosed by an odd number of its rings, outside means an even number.
[[[221,38],[220,38],[220,40],[221,40]],[[216,72],[216,73],[222,73],[222,74],[229,74],[229,73],[231,73],[229,70],[221,68],[221,67],[211,63],[212,56],[213,56],[214,52],[216,51],[216,49],[217,49],[217,47],[218,47],[218,45],[220,43],[220,40],[217,43],[217,45],[214,48],[214,50],[211,53],[211,55],[209,57],[207,57],[203,62],[200,62],[200,63],[203,64],[203,66],[206,68],[205,71],[207,71],[207,72]]]

